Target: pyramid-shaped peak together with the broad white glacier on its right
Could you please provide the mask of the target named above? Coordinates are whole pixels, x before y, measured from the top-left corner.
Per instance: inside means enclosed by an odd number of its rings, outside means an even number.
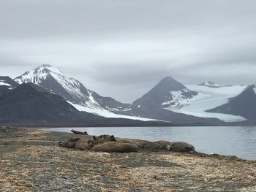
[[[187,119],[193,115],[198,118],[217,118],[226,122],[246,120],[239,115],[206,112],[206,110],[227,103],[230,97],[237,96],[244,91],[246,85],[219,85],[219,87],[213,83],[211,86],[206,85],[182,85],[171,77],[165,77],[151,91],[134,101],[132,110],[129,112],[144,118],[155,116],[162,120],[173,120],[173,117],[175,117],[174,120],[182,119],[181,114],[190,115],[183,117]],[[171,114],[171,118],[167,110],[175,112]]]

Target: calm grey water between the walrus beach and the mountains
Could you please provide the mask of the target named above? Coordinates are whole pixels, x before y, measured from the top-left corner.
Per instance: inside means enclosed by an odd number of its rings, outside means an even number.
[[[50,131],[70,132],[72,128],[46,128]],[[149,141],[184,141],[198,152],[236,155],[256,160],[256,126],[217,127],[108,127],[74,128],[90,135],[113,134],[115,137],[146,139]]]

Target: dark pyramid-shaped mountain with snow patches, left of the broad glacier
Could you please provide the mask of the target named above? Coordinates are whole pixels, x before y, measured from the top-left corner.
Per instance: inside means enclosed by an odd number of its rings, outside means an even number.
[[[190,104],[197,94],[196,91],[189,90],[173,78],[165,77],[148,93],[134,101],[131,110],[121,112],[121,114],[166,120],[172,123],[220,123],[220,120],[214,118],[197,118],[171,110]]]

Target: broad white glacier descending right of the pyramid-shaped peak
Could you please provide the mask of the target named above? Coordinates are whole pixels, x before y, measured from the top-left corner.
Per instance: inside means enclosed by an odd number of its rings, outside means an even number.
[[[246,89],[246,85],[233,85],[224,87],[208,87],[202,85],[186,85],[187,88],[193,91],[197,91],[197,96],[195,96],[191,103],[180,109],[167,108],[174,112],[181,112],[187,115],[195,115],[197,117],[204,118],[219,118],[220,120],[225,120],[227,122],[242,121],[246,120],[243,117],[236,115],[227,115],[215,112],[206,112],[206,110],[213,109],[222,104],[227,103],[231,97],[237,96],[239,93]]]

